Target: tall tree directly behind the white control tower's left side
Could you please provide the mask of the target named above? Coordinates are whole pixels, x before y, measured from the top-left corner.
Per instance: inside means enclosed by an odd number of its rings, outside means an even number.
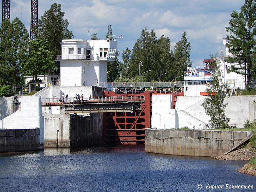
[[[74,37],[73,33],[68,30],[69,23],[64,19],[64,14],[61,12],[61,4],[54,3],[44,13],[41,20],[38,20],[38,37],[48,40],[52,59],[54,55],[61,54],[60,41]]]

